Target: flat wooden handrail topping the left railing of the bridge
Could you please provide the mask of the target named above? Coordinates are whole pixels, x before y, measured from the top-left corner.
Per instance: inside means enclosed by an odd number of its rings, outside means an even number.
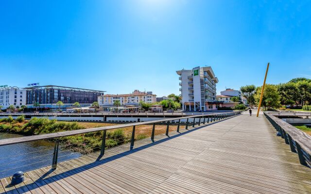
[[[230,113],[240,113],[240,112],[230,112]],[[40,134],[40,135],[33,135],[33,136],[23,136],[23,137],[17,137],[17,138],[2,139],[0,140],[0,146],[32,142],[32,141],[44,140],[44,139],[52,139],[52,138],[58,138],[58,137],[66,137],[70,135],[78,135],[78,134],[96,132],[96,131],[102,131],[102,130],[120,129],[120,128],[147,125],[147,124],[153,124],[153,123],[159,123],[159,122],[167,122],[167,121],[178,120],[178,119],[196,118],[196,117],[203,117],[203,116],[217,116],[217,115],[222,115],[222,114],[226,114],[226,113],[199,114],[199,115],[159,119],[159,120],[139,122],[139,123],[128,123],[128,124],[113,125],[113,126],[107,126],[107,127],[78,129],[78,130],[61,131],[61,132]]]

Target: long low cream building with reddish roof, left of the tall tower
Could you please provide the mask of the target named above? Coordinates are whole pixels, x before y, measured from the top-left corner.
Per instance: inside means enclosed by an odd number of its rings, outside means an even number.
[[[113,107],[114,102],[119,100],[121,106],[123,105],[139,105],[140,101],[144,101],[146,103],[154,103],[156,102],[156,95],[152,94],[152,92],[140,92],[139,90],[135,90],[132,94],[105,94],[99,96],[98,104],[100,106],[100,110],[107,110],[109,107]]]

